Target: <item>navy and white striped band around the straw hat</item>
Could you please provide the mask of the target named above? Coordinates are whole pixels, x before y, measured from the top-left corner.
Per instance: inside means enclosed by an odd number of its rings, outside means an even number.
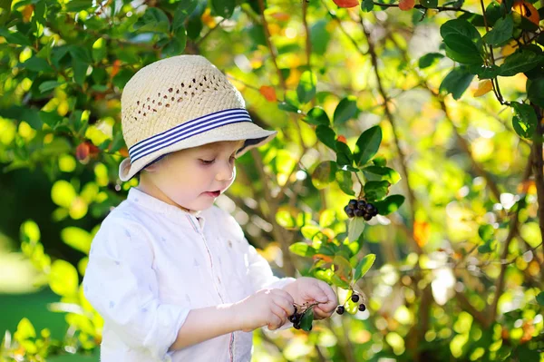
[[[155,134],[148,139],[132,145],[129,149],[131,163],[196,134],[208,132],[227,124],[239,122],[252,122],[246,109],[234,108],[223,110],[215,113],[209,113],[199,118],[195,118],[194,120],[184,122],[168,131]],[[161,155],[160,158],[164,156],[165,155]],[[154,161],[159,161],[160,158],[151,161],[151,163]],[[149,163],[148,166],[151,163]]]

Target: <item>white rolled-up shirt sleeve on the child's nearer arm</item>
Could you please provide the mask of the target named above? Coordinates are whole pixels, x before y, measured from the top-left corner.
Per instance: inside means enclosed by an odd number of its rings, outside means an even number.
[[[189,309],[160,303],[147,235],[139,224],[104,220],[92,240],[83,294],[128,347],[162,361],[171,357]]]

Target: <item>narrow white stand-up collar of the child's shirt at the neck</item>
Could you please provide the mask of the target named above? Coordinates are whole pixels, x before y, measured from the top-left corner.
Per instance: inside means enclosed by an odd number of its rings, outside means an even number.
[[[194,223],[198,222],[200,229],[204,228],[205,218],[200,210],[181,210],[179,207],[170,205],[168,202],[161,201],[135,187],[131,187],[129,190],[127,200],[136,202],[147,209],[160,212],[176,222],[181,221],[186,223],[190,221],[191,224],[193,224],[193,227]]]

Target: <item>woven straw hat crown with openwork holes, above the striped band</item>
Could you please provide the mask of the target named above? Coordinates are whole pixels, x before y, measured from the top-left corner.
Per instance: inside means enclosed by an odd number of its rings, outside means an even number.
[[[183,54],[148,64],[121,94],[121,127],[127,147],[199,118],[245,108],[225,74],[201,55]]]

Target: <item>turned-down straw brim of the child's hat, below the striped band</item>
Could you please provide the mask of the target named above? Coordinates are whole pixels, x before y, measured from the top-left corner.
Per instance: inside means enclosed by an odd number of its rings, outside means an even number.
[[[168,147],[152,152],[141,159],[131,162],[130,158],[121,161],[119,165],[119,178],[121,181],[129,181],[131,178],[149,165],[161,155],[176,152],[192,147],[199,147],[203,144],[221,141],[245,140],[244,146],[238,151],[237,158],[248,152],[250,149],[261,146],[274,137],[277,131],[267,131],[252,122],[231,123],[207,132],[196,134],[190,138],[171,144]]]

